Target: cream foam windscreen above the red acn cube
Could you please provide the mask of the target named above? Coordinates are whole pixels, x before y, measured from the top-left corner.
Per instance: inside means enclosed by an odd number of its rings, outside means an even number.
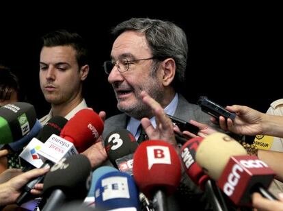
[[[196,162],[211,178],[217,180],[231,156],[245,155],[247,151],[237,140],[217,132],[202,140],[196,153]]]

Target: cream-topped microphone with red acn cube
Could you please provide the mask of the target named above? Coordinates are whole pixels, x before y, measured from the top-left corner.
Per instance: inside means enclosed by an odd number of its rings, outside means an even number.
[[[239,142],[226,134],[215,133],[204,138],[196,161],[237,206],[250,206],[250,195],[254,192],[276,199],[267,190],[274,172],[256,156],[247,156]]]

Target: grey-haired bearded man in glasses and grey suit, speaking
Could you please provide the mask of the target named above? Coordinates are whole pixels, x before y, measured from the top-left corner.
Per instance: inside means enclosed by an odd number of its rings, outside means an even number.
[[[144,127],[159,125],[159,120],[155,118],[159,109],[186,121],[209,122],[208,115],[179,92],[185,80],[188,50],[185,32],[180,27],[168,21],[131,18],[118,24],[113,34],[116,40],[113,42],[111,60],[104,63],[104,69],[118,100],[117,107],[123,114],[111,116],[105,121],[104,137],[114,129],[126,128],[138,139],[142,119]],[[143,101],[146,95],[141,94],[143,91],[161,105],[157,110],[152,110]],[[148,137],[151,135],[148,134]],[[180,151],[175,138],[165,141],[174,145],[177,152]],[[179,189],[170,199],[170,210],[187,209],[193,206],[192,203],[198,210],[211,208],[205,194],[185,173],[182,184],[185,184],[183,190]]]

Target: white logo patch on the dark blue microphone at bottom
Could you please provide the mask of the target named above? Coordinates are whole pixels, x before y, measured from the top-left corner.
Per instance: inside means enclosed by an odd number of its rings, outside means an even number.
[[[127,177],[107,177],[101,180],[103,201],[116,198],[130,198]],[[100,191],[96,190],[96,197],[99,197]]]

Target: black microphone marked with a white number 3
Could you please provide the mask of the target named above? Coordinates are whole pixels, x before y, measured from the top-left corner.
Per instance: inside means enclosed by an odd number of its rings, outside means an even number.
[[[139,146],[129,130],[116,129],[105,138],[105,151],[113,166],[133,175],[133,153]]]

